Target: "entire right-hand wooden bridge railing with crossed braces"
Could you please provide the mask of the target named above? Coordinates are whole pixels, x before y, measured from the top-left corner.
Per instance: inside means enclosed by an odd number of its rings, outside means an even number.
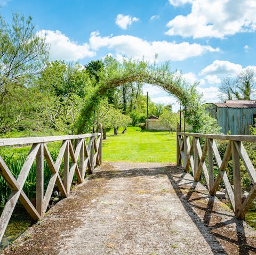
[[[200,144],[200,138],[205,141],[203,149]],[[215,140],[228,141],[222,159]],[[203,174],[210,195],[215,195],[222,180],[235,216],[242,219],[245,218],[246,211],[250,208],[250,205],[256,197],[256,171],[243,146],[242,142],[244,141],[256,142],[256,136],[180,133],[179,127],[177,128],[177,164],[179,165],[182,162],[185,171],[188,171],[190,167],[196,182],[200,180],[201,174]],[[205,159],[207,155],[208,162],[206,166]],[[218,175],[216,178],[214,178],[213,174],[213,157],[218,167]],[[233,167],[234,187],[230,185],[226,172],[230,158]],[[249,195],[247,195],[247,198],[243,202],[240,159],[242,159],[253,185]]]

